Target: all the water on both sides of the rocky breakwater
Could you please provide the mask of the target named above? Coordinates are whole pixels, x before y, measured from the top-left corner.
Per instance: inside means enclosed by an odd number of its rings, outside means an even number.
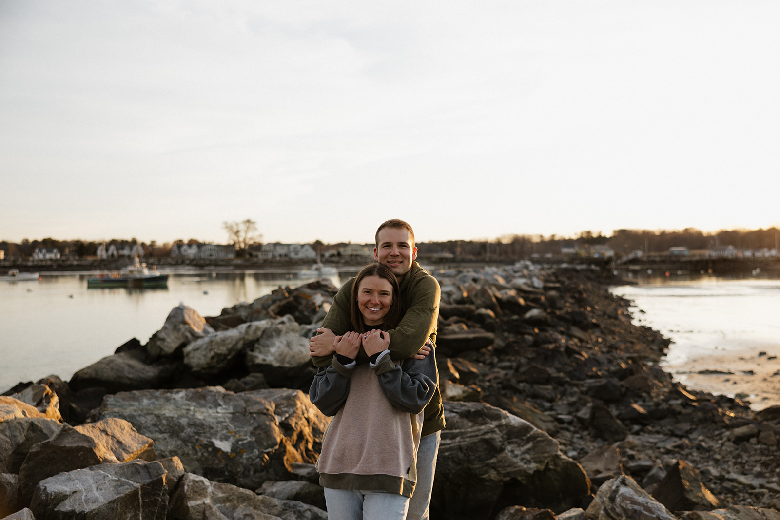
[[[343,280],[353,274],[339,271]],[[339,275],[330,277],[337,287]],[[297,271],[188,271],[172,273],[168,287],[157,289],[87,288],[87,274],[2,282],[0,393],[48,375],[69,380],[132,338],[146,343],[181,303],[218,316],[307,281]],[[661,366],[676,380],[747,398],[754,409],[780,405],[780,281],[672,276],[612,292],[633,302],[636,324],[672,340]]]

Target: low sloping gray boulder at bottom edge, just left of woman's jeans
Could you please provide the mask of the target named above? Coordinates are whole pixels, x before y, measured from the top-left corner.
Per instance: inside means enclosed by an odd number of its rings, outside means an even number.
[[[285,501],[245,490],[231,484],[215,483],[187,473],[171,497],[168,518],[175,520],[327,520],[320,508]],[[335,520],[335,519],[332,519]]]

